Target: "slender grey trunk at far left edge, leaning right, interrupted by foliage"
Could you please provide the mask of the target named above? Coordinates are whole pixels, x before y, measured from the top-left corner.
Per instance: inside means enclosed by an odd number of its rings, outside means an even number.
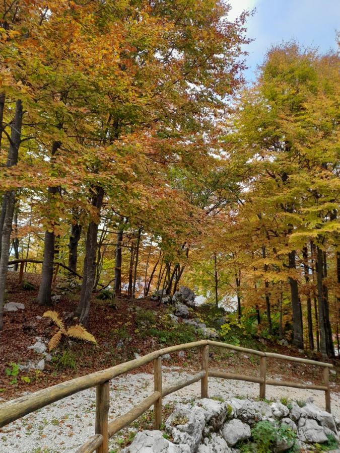
[[[18,163],[19,146],[21,143],[21,126],[23,117],[22,102],[16,102],[14,121],[11,126],[11,141],[7,158],[7,167]],[[8,271],[12,220],[14,213],[15,191],[10,190],[4,195],[6,212],[4,216],[3,229],[1,231],[1,257],[0,257],[0,330],[4,327],[3,312],[5,302],[5,288]]]

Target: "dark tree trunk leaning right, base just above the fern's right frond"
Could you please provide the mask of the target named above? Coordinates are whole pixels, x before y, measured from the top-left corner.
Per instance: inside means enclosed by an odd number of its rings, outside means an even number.
[[[100,210],[103,204],[103,197],[104,190],[101,187],[96,187],[92,197],[92,206],[96,208],[97,219],[90,221],[86,234],[83,282],[80,301],[76,310],[76,316],[79,317],[80,324],[85,327],[89,324],[91,295],[96,271],[98,225],[100,222]]]

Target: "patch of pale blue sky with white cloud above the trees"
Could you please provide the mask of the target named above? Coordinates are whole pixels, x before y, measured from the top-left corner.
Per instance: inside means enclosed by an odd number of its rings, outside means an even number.
[[[305,47],[316,47],[320,53],[336,49],[336,31],[340,31],[339,0],[229,0],[229,18],[243,10],[256,9],[248,19],[247,36],[254,41],[245,46],[249,69],[245,78],[255,78],[256,66],[271,44],[295,40]]]

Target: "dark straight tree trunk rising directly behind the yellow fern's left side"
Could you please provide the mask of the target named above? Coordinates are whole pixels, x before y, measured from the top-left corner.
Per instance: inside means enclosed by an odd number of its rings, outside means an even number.
[[[53,156],[59,149],[61,143],[60,141],[53,141],[51,156]],[[57,187],[48,187],[47,189],[47,200],[48,203],[51,203],[55,194],[57,193]],[[41,282],[39,286],[39,292],[37,301],[39,305],[51,306],[51,286],[53,280],[53,259],[54,259],[54,246],[55,246],[55,237],[53,231],[45,231],[45,240],[44,240],[44,257],[42,263],[42,272],[41,272]]]

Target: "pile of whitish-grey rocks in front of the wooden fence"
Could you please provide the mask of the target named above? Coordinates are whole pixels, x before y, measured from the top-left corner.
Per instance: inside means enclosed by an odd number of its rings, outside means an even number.
[[[299,407],[294,402],[286,406],[280,402],[218,399],[221,401],[203,398],[194,404],[177,404],[165,422],[167,436],[172,442],[165,439],[161,431],[145,431],[138,433],[123,451],[235,453],[239,451],[240,443],[255,442],[252,430],[256,431],[260,421],[273,425],[274,432],[283,433],[275,434],[277,437],[272,445],[276,453],[288,451],[294,443],[308,451],[314,448],[313,444],[327,442],[329,436],[338,439],[337,420],[311,400]],[[293,434],[287,435],[287,432]],[[255,443],[249,443],[249,447],[256,451]]]

